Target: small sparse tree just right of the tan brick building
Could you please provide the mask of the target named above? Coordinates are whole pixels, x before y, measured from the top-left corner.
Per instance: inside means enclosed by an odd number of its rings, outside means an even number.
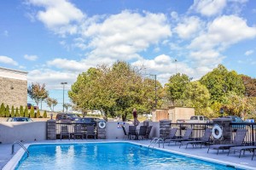
[[[48,91],[45,89],[45,84],[41,86],[38,82],[32,83],[32,85],[27,88],[27,94],[36,102],[37,106],[39,102],[41,102],[41,110],[42,101],[49,95]]]

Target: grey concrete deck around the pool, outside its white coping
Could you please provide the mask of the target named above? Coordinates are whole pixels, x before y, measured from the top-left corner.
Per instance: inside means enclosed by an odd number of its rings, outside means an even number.
[[[107,140],[107,139],[87,139],[87,140],[81,140],[81,139],[76,139],[76,140],[68,140],[68,139],[62,139],[62,140],[45,140],[45,141],[38,141],[38,142],[33,142],[33,143],[27,143],[27,144],[35,144],[35,143],[88,143],[88,142],[119,142],[119,141],[126,141],[126,142],[131,142],[131,143],[136,143],[136,144],[143,144],[147,145],[149,144],[150,140]],[[11,155],[11,145],[12,144],[0,144],[0,168],[2,169],[4,165],[13,157]],[[155,148],[158,148],[158,144],[154,146]],[[162,149],[162,144],[160,144],[160,148]],[[15,153],[20,150],[20,146],[18,144],[15,145]],[[239,167],[244,167],[246,169],[255,169],[256,170],[256,156],[254,156],[253,161],[251,160],[253,154],[250,152],[246,152],[245,155],[241,155],[241,158],[239,158],[239,154],[233,154],[230,153],[230,156],[227,156],[227,150],[219,150],[218,155],[217,150],[210,150],[209,153],[207,154],[207,147],[195,147],[194,149],[192,148],[191,145],[189,145],[188,149],[185,149],[185,146],[182,146],[182,148],[178,148],[178,145],[172,144],[168,146],[168,144],[165,144],[165,150],[169,150],[174,153],[178,153],[181,155],[185,156],[192,156],[192,157],[198,157],[204,160],[212,160],[212,161],[222,161],[225,165],[232,165],[236,164]]]

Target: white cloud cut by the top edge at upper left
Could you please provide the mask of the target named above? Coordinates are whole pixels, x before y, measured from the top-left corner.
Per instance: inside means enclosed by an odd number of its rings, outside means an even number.
[[[67,0],[27,0],[27,3],[44,7],[45,10],[40,10],[36,14],[37,19],[58,33],[76,33],[77,27],[72,24],[80,22],[85,17],[79,8]]]

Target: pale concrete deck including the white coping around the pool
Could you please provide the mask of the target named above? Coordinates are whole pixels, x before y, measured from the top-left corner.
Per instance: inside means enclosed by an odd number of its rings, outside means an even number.
[[[38,141],[38,142],[32,142],[25,144],[26,147],[28,147],[30,144],[89,144],[89,143],[109,143],[109,142],[127,142],[131,144],[141,144],[143,146],[148,147],[149,140],[111,140],[111,139],[87,139],[87,140],[45,140],[45,141]],[[15,145],[15,155],[11,155],[11,145],[12,144],[0,144],[0,167],[5,169],[14,169],[15,166],[19,163],[20,158],[23,156],[23,154],[26,152],[20,147],[17,147],[18,145]],[[161,147],[161,145],[160,145]],[[230,167],[236,167],[236,168],[242,168],[242,169],[255,169],[256,170],[256,160],[251,160],[252,153],[246,152],[245,156],[241,156],[241,158],[238,157],[238,154],[230,154],[230,156],[227,156],[227,151],[219,152],[218,156],[216,155],[216,150],[210,150],[209,154],[207,154],[207,148],[204,147],[202,149],[200,148],[194,148],[189,147],[188,149],[184,149],[182,147],[181,149],[178,148],[178,145],[171,145],[168,146],[165,144],[165,149],[155,147],[154,149],[157,150],[165,150],[173,154],[181,155],[181,156],[187,156],[195,159],[199,159],[202,161],[210,161],[213,163],[222,164],[225,166]]]

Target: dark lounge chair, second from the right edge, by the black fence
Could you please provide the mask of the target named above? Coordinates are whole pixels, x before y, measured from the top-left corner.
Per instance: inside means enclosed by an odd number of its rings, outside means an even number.
[[[229,150],[230,147],[241,146],[246,134],[247,134],[247,129],[237,129],[235,139],[231,141],[230,144],[212,144],[209,146],[207,153],[209,152],[210,149],[224,151],[224,150]],[[217,151],[217,155],[218,155],[218,151]]]

